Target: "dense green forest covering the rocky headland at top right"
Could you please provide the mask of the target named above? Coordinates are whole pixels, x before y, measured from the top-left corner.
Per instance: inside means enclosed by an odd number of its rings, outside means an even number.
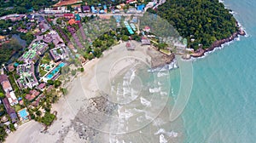
[[[168,20],[181,36],[186,37],[188,47],[193,49],[198,49],[199,44],[206,49],[216,40],[230,37],[238,30],[230,10],[218,0],[166,1],[156,14]]]

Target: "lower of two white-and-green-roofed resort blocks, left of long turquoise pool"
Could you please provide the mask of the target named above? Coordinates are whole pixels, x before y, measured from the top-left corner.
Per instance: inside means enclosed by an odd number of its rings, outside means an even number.
[[[20,75],[20,78],[17,80],[20,89],[32,89],[38,85],[38,79],[34,75],[33,62],[17,66],[17,74]]]

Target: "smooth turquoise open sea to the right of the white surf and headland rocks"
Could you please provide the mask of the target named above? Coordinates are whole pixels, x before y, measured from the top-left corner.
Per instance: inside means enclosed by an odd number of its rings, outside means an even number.
[[[224,3],[249,36],[193,62],[193,89],[181,115],[186,143],[256,139],[256,1]]]

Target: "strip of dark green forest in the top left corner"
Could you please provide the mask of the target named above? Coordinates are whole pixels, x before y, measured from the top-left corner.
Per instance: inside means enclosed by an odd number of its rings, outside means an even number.
[[[0,16],[6,14],[25,14],[31,9],[39,10],[49,7],[57,1],[52,0],[0,0]]]

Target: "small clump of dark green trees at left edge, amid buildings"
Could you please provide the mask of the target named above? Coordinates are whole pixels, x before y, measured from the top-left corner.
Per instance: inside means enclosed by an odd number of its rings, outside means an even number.
[[[3,43],[0,47],[0,65],[6,63],[16,52],[21,52],[22,46],[16,41],[11,40],[9,43]]]

